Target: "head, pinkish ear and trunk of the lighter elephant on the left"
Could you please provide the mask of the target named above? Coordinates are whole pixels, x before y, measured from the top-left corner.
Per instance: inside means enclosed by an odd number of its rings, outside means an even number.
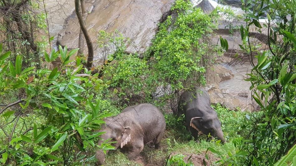
[[[131,130],[130,126],[125,126],[117,122],[106,122],[106,125],[102,127],[100,131],[106,132],[101,136],[101,140],[98,142],[100,146],[105,140],[111,139],[110,141],[116,142],[111,145],[115,149],[118,147],[123,147],[131,140]],[[108,150],[107,150],[108,153]],[[97,165],[102,165],[105,162],[105,154],[103,150],[96,151]]]

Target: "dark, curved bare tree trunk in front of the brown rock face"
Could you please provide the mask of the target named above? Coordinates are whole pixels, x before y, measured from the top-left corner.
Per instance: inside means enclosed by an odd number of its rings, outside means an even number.
[[[82,16],[80,8],[79,8],[79,0],[75,0],[74,2],[75,2],[75,12],[76,12],[76,15],[77,15],[77,18],[79,21],[80,29],[83,32],[83,35],[84,35],[84,38],[86,41],[86,45],[88,48],[88,57],[87,57],[86,67],[88,69],[90,69],[93,64],[93,44],[92,44],[92,41],[88,35],[86,26],[83,21],[83,16]]]

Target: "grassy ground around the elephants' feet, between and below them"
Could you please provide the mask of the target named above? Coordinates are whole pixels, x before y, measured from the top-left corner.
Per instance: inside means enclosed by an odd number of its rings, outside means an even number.
[[[207,141],[207,136],[200,135],[200,143],[193,141],[190,131],[186,130],[184,116],[176,117],[173,114],[164,114],[166,119],[166,131],[162,140],[163,150],[150,149],[144,146],[141,156],[145,163],[153,165],[165,165],[166,159],[172,153],[174,154],[203,154],[209,147],[218,151],[222,155],[228,155],[228,152],[234,153],[234,146],[242,142],[244,132],[242,129],[243,122],[246,119],[246,112],[229,111],[220,104],[213,106],[218,113],[218,117],[222,122],[222,130],[227,139],[225,144],[215,141]],[[129,161],[126,154],[119,150],[107,154],[105,166],[113,165],[139,165],[134,161]],[[151,165],[152,165],[151,164]]]

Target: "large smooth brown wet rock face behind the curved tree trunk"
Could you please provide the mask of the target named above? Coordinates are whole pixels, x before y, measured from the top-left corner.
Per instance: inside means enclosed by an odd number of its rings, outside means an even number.
[[[124,37],[130,38],[127,52],[143,53],[151,44],[160,18],[168,12],[174,0],[93,0],[86,2],[88,17],[86,25],[88,33],[94,42],[94,61],[105,58],[96,43],[98,32],[118,30]],[[73,13],[65,21],[64,29],[60,31],[58,43],[68,48],[78,47],[79,25],[76,14]],[[85,44],[85,50],[86,44]]]

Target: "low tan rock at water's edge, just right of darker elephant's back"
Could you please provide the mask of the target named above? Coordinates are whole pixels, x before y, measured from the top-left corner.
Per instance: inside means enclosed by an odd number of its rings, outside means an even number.
[[[210,91],[209,95],[211,104],[220,103],[222,106],[229,108],[230,110],[237,110],[236,108],[240,106],[240,100],[230,94]]]

